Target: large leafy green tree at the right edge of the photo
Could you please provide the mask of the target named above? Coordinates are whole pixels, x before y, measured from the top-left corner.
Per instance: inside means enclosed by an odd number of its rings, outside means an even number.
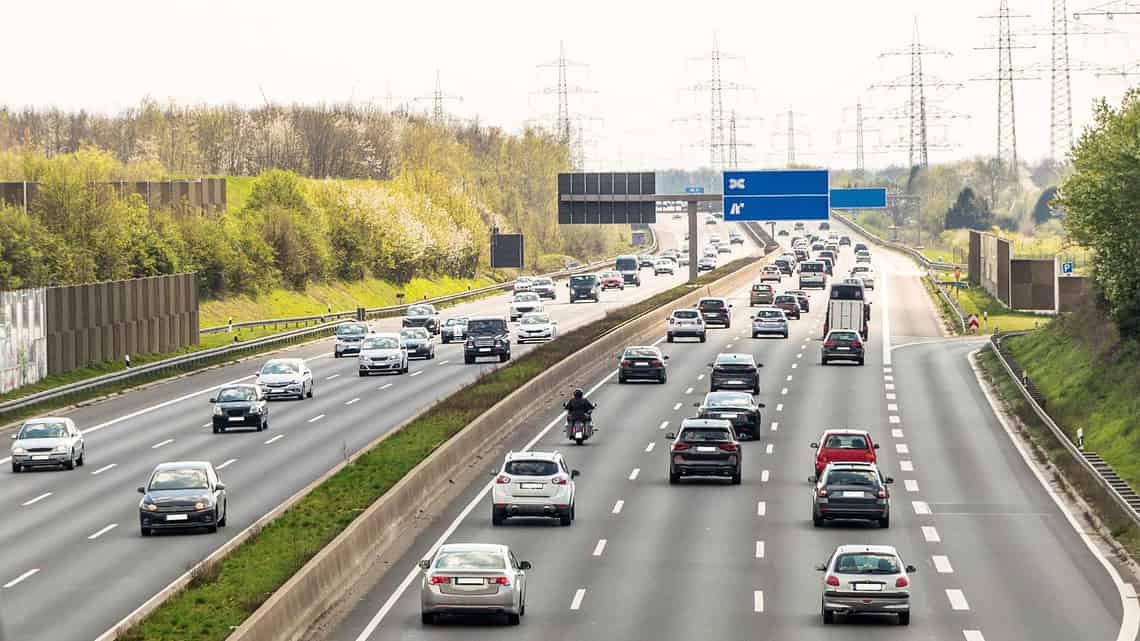
[[[1140,336],[1140,89],[1118,108],[1105,100],[1073,148],[1059,190],[1062,224],[1093,251],[1094,277],[1122,338]]]

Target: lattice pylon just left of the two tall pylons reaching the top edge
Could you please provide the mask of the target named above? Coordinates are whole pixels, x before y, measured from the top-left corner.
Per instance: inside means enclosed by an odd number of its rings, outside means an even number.
[[[910,167],[929,165],[930,143],[927,129],[929,122],[931,120],[958,117],[956,114],[951,114],[950,112],[931,112],[927,94],[930,89],[956,89],[960,88],[961,84],[933,78],[922,68],[923,58],[929,56],[950,57],[950,51],[931,49],[922,44],[919,39],[918,18],[914,18],[914,31],[911,38],[910,47],[894,51],[886,51],[879,55],[880,58],[886,56],[907,56],[911,59],[911,73],[909,75],[904,75],[890,82],[880,82],[871,86],[871,89],[907,89],[910,92],[910,97],[905,103],[905,115],[902,115],[902,117],[905,117],[909,121],[906,147],[907,162],[910,163]],[[899,117],[899,114],[888,115],[885,117],[897,119]]]

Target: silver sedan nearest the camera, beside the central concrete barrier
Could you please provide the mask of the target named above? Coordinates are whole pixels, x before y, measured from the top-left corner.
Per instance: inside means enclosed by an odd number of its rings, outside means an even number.
[[[424,625],[440,615],[505,615],[519,625],[527,612],[527,570],[506,545],[449,543],[420,561],[420,611]]]

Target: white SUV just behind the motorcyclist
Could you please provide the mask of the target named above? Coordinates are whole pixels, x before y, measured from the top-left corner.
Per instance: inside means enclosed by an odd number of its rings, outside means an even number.
[[[557,452],[511,452],[491,489],[491,525],[511,517],[546,517],[563,526],[575,518],[578,470]]]

